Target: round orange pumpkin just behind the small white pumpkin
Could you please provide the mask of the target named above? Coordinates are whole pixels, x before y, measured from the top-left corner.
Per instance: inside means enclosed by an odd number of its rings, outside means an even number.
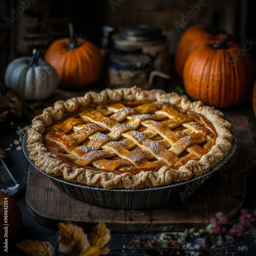
[[[52,65],[62,88],[81,88],[100,80],[104,57],[99,48],[89,40],[76,38],[70,24],[70,38],[58,39],[49,46],[45,60]]]

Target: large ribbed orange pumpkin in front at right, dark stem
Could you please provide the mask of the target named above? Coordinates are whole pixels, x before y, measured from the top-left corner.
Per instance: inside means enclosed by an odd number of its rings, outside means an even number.
[[[188,56],[183,71],[187,94],[216,108],[242,103],[251,95],[254,80],[250,53],[228,42],[228,35],[217,45],[197,47]]]

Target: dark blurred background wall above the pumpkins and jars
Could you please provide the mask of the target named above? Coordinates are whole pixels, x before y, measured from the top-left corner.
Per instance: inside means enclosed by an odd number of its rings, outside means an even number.
[[[191,6],[204,7],[182,24]],[[103,25],[115,31],[136,23],[160,27],[167,35],[170,55],[182,33],[198,23],[209,25],[212,13],[220,14],[219,29],[243,44],[256,41],[254,0],[0,0],[0,81],[7,63],[19,56],[30,56],[33,48],[43,55],[51,42],[69,36],[68,23],[75,33],[99,44]],[[16,14],[15,14],[16,13]],[[177,23],[182,27],[177,29]],[[256,47],[250,50],[255,58]]]

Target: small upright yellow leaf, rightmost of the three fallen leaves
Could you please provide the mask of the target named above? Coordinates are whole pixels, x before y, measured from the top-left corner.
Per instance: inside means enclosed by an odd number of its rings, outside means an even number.
[[[94,227],[92,233],[89,237],[89,242],[91,246],[102,248],[111,239],[110,229],[106,228],[104,222],[99,223]]]

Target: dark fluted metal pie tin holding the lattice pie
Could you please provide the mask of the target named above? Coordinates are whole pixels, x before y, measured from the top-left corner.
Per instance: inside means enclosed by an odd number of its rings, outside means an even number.
[[[31,127],[31,126],[30,126]],[[42,174],[51,179],[53,184],[67,195],[96,206],[113,208],[113,209],[152,209],[163,206],[171,206],[179,202],[184,202],[186,198],[194,196],[191,190],[200,190],[204,181],[210,178],[218,169],[220,169],[236,152],[237,135],[233,127],[231,128],[233,135],[232,147],[229,153],[212,167],[208,172],[193,176],[189,180],[172,182],[168,185],[158,187],[145,187],[138,189],[114,188],[105,189],[102,187],[89,186],[85,184],[75,183],[65,180],[63,177],[52,177],[42,172],[35,166],[35,162],[29,159],[29,151],[27,149],[27,131],[23,138],[23,151],[28,161]],[[189,200],[189,199],[187,199]]]

